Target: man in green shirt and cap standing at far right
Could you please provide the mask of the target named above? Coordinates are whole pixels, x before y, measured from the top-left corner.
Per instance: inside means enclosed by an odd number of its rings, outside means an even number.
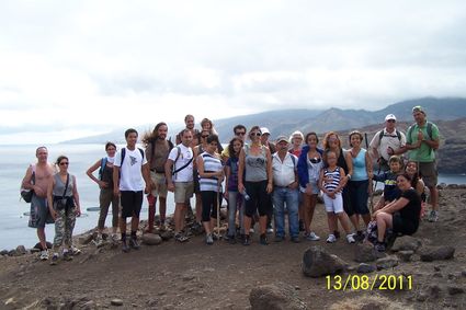
[[[428,122],[425,111],[417,105],[412,108],[416,123],[407,131],[406,148],[409,150],[409,160],[418,162],[418,173],[429,187],[432,210],[429,221],[439,219],[439,192],[436,190],[437,171],[435,164],[435,150],[440,146],[440,133],[435,124]]]

